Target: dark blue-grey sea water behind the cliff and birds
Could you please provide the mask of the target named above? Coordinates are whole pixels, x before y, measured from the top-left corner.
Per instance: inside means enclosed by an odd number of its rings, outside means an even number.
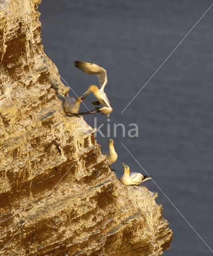
[[[85,116],[105,124],[97,141],[107,150],[107,124],[118,160],[130,170],[143,166],[185,219],[213,250],[213,7],[121,114],[213,1],[51,0],[39,5],[42,44],[77,95],[97,84],[73,62],[95,62],[107,70],[105,92],[113,112]],[[62,80],[63,82],[63,80]],[[75,96],[73,93],[70,95]],[[94,101],[92,95],[89,102]],[[86,102],[90,109],[94,107]],[[87,111],[81,106],[81,111]],[[114,138],[113,124],[117,128]],[[128,136],[129,124],[139,137]],[[132,127],[131,127],[132,128]],[[120,132],[119,132],[120,131]],[[132,132],[134,134],[134,132]],[[152,181],[157,202],[174,232],[168,256],[210,256],[211,250]]]

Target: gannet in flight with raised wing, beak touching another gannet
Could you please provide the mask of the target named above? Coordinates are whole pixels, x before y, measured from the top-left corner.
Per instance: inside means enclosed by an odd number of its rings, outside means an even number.
[[[98,101],[92,102],[92,104],[96,106],[101,104],[102,107],[96,108],[97,111],[107,115],[109,118],[109,114],[112,112],[112,107],[110,106],[107,95],[104,92],[105,85],[107,84],[107,71],[95,63],[84,61],[75,61],[75,66],[87,74],[97,74],[100,89],[93,84],[89,86],[87,91],[83,94],[84,96],[82,98],[86,98],[90,92],[93,92]]]

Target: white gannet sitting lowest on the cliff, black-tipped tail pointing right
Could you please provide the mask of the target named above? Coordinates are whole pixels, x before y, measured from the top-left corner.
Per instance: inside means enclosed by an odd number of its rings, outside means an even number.
[[[129,166],[124,163],[122,164],[124,166],[124,174],[120,177],[120,181],[124,185],[139,185],[141,182],[152,178],[152,176],[143,176],[139,172],[130,172]]]

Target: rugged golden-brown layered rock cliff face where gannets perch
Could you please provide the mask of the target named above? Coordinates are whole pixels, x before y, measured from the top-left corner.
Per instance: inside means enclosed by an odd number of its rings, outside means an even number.
[[[38,0],[2,0],[0,255],[157,256],[172,231],[156,193],[124,186],[43,53]]]

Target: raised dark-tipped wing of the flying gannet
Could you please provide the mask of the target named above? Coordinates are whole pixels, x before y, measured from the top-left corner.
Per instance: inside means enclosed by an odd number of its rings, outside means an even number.
[[[86,74],[97,74],[99,80],[99,86],[101,90],[104,90],[107,84],[107,71],[95,63],[85,61],[75,61],[75,66],[81,69]]]

